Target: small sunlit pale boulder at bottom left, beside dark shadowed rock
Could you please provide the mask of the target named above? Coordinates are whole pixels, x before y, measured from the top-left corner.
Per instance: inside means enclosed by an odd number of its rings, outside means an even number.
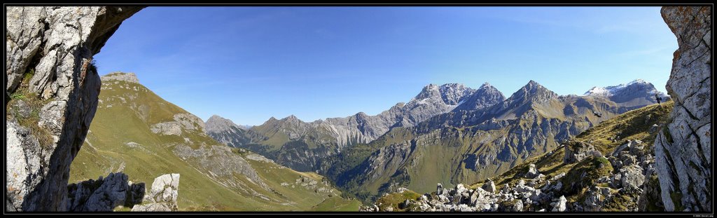
[[[164,174],[154,179],[152,188],[144,197],[145,202],[132,207],[133,212],[177,211],[179,174]]]

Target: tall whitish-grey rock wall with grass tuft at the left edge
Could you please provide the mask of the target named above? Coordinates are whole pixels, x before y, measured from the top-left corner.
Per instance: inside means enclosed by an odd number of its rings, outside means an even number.
[[[9,118],[6,209],[59,211],[67,198],[70,163],[95,114],[100,77],[92,55],[141,7],[9,6],[6,8],[6,96],[39,99],[39,126],[51,140],[34,143]],[[22,82],[24,78],[29,78]],[[6,102],[6,105],[8,103]],[[31,124],[34,125],[34,124]],[[11,142],[10,142],[11,141]]]

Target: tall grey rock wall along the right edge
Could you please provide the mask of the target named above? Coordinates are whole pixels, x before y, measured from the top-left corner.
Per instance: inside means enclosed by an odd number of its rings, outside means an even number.
[[[655,166],[667,211],[712,211],[712,9],[665,6],[677,37],[670,80],[671,123],[655,139]]]

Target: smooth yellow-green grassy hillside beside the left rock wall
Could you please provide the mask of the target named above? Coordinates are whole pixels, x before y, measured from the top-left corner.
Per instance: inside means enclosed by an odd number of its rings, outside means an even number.
[[[125,102],[118,97],[125,98]],[[179,173],[180,210],[308,210],[330,198],[328,194],[315,193],[313,189],[281,186],[282,182],[293,183],[300,175],[306,174],[275,163],[247,159],[273,191],[258,187],[240,174],[229,179],[234,185],[210,179],[206,172],[196,167],[196,163],[175,156],[171,144],[189,140],[193,148],[201,144],[222,145],[199,132],[185,133],[181,137],[152,133],[149,129],[152,123],[171,121],[174,114],[187,112],[162,100],[142,85],[103,82],[100,100],[103,102],[92,121],[87,140],[71,166],[70,182],[97,179],[113,171],[123,171],[131,181],[151,185],[157,176]],[[128,142],[140,146],[130,147],[126,144]],[[254,191],[267,196],[269,201],[254,194]]]

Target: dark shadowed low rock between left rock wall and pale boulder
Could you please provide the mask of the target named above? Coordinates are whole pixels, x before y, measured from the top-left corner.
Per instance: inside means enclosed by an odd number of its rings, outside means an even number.
[[[108,212],[118,206],[132,207],[142,202],[145,193],[144,183],[132,184],[123,173],[70,184],[67,189],[70,212]]]

